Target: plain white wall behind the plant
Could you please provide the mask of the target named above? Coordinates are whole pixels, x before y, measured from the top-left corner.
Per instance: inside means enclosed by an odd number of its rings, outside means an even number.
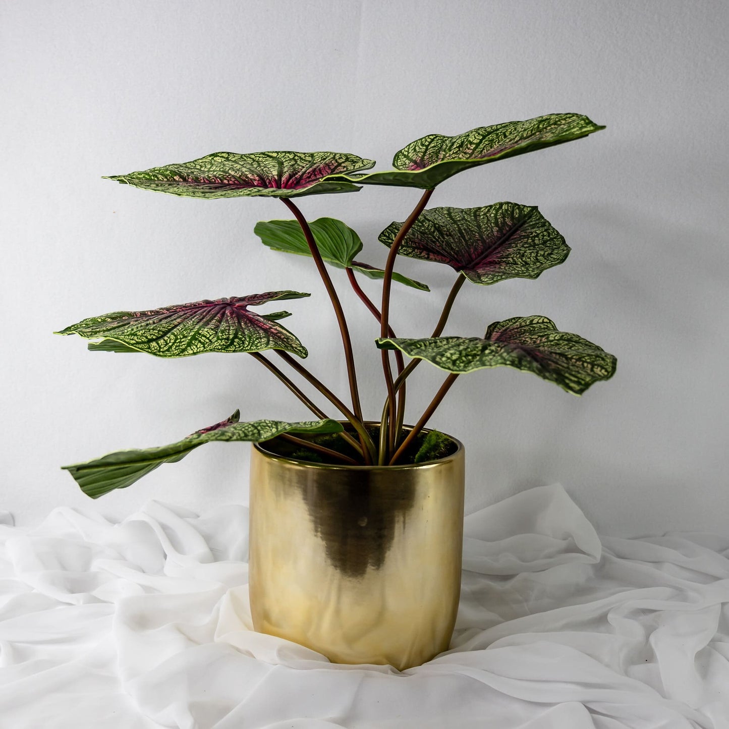
[[[0,508],[34,523],[59,504],[121,517],[150,498],[245,502],[247,445],[208,445],[95,502],[58,466],[163,445],[236,407],[308,418],[246,356],[93,354],[51,334],[85,316],[311,291],[286,302],[286,324],[346,393],[311,262],[252,233],[291,217],[281,203],[153,195],[102,175],[219,150],[332,149],[388,168],[426,133],[580,112],[607,130],[437,188],[433,206],[537,203],[573,249],[537,281],[467,285],[446,333],[544,313],[615,353],[617,375],[581,399],[506,368],[467,375],[432,424],[467,445],[468,510],[559,480],[605,533],[726,533],[728,34],[720,0],[6,0]],[[383,264],[378,232],[417,198],[370,187],[300,207],[344,219]],[[426,335],[453,272],[399,268],[433,292],[398,287],[394,328]],[[375,322],[340,274],[376,416]],[[441,379],[420,367],[412,405]]]

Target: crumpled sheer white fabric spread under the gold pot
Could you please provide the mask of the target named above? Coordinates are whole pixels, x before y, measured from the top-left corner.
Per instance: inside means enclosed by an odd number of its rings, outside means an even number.
[[[251,630],[247,518],[0,514],[0,727],[729,728],[729,538],[512,496],[466,518],[451,650],[400,674]]]

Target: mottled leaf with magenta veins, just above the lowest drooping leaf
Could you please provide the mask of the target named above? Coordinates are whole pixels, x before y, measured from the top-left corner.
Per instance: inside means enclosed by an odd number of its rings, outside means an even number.
[[[230,299],[195,301],[151,311],[115,311],[92,316],[56,334],[77,334],[85,339],[105,338],[94,348],[128,351],[114,347],[114,340],[127,348],[157,357],[186,357],[205,352],[258,352],[284,349],[300,357],[308,355],[305,346],[285,327],[276,323],[287,312],[260,315],[249,311],[280,299],[299,299],[309,294],[297,291],[270,291],[265,294],[234,296]]]

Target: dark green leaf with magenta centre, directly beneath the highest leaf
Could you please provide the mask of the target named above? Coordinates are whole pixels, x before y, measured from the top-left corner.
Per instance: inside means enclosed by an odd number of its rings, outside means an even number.
[[[392,246],[401,227],[391,223],[379,240]],[[447,263],[474,284],[495,284],[504,278],[537,278],[564,262],[569,246],[536,207],[496,203],[424,210],[397,252]]]

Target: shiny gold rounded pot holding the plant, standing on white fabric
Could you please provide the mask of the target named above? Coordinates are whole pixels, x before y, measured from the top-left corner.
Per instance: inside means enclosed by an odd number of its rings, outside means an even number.
[[[452,440],[450,456],[391,467],[297,461],[255,444],[255,630],[335,663],[401,671],[448,650],[464,510],[464,448]]]

